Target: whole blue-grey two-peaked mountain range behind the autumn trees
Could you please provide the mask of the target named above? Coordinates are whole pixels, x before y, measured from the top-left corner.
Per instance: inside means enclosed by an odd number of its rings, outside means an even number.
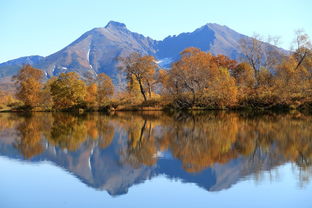
[[[159,60],[161,67],[169,67],[188,47],[197,47],[212,54],[223,54],[238,60],[241,56],[239,40],[249,38],[226,26],[206,24],[193,32],[169,36],[161,41],[131,32],[126,25],[110,21],[105,27],[94,28],[62,50],[47,57],[28,56],[0,64],[0,79],[17,73],[23,64],[31,64],[45,71],[47,77],[75,71],[80,75],[117,73],[117,57],[132,52],[149,54]]]

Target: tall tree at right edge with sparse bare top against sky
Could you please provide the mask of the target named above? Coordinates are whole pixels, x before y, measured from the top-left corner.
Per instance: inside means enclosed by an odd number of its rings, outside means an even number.
[[[292,53],[276,68],[279,102],[300,105],[312,99],[312,44],[302,30],[296,31]]]

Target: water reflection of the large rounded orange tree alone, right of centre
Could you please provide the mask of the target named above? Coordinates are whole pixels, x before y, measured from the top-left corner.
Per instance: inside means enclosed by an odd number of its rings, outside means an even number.
[[[235,157],[232,145],[237,133],[237,118],[205,116],[177,123],[168,128],[169,148],[184,168],[198,172],[216,162],[225,163]]]

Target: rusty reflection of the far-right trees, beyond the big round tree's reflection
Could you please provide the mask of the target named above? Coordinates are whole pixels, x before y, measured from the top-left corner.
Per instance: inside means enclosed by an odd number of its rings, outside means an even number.
[[[251,155],[250,163],[258,167],[258,171],[264,162],[267,166],[278,164],[278,161],[291,161],[299,167],[311,166],[310,117],[266,116],[247,120],[245,125],[240,126],[244,129],[240,132],[249,136],[238,140],[236,146],[246,146],[247,142],[253,145],[249,147],[252,152],[247,152],[247,155]],[[246,138],[250,138],[249,141]]]

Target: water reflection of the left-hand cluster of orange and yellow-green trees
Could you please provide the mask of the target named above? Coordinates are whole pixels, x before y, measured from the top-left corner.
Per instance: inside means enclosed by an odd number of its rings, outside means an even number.
[[[44,141],[49,146],[76,151],[84,142],[99,143],[105,148],[114,136],[114,128],[107,116],[35,113],[18,117],[16,123],[19,139],[14,146],[25,158],[41,154],[46,148]]]

